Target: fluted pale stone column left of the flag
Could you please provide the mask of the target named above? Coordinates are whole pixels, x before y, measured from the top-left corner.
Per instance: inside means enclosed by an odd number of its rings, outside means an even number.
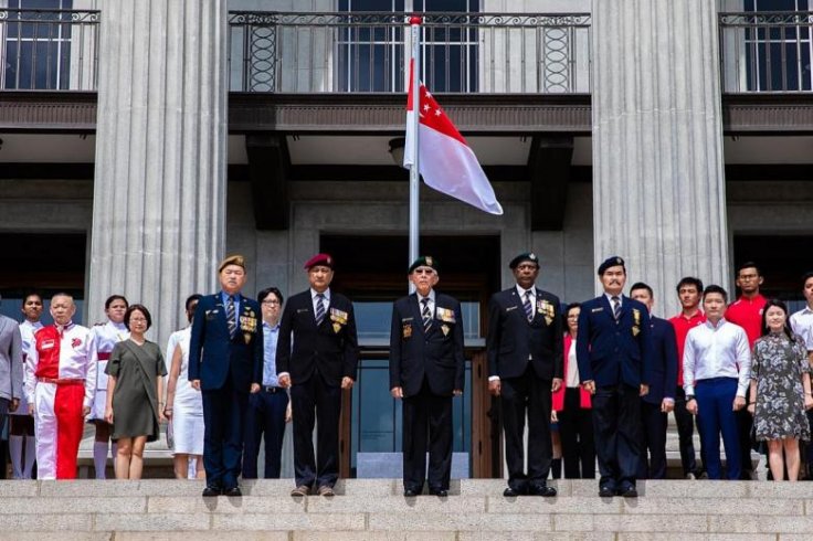
[[[225,236],[226,1],[104,2],[88,321],[114,293],[163,347]]]

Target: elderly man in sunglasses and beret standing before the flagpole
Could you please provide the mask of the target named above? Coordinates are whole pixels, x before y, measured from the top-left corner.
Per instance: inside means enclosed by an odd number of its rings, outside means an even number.
[[[437,262],[410,266],[416,293],[392,307],[390,393],[403,399],[403,494],[448,495],[452,473],[452,397],[463,393],[465,358],[461,304],[434,290]],[[429,450],[429,475],[426,452]]]

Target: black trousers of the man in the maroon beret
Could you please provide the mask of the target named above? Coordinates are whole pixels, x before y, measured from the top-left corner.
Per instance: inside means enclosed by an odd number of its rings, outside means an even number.
[[[307,381],[291,386],[291,410],[294,415],[296,486],[332,487],[339,478],[341,386],[328,385],[318,372],[314,372]],[[314,425],[317,422],[317,454],[314,455]]]

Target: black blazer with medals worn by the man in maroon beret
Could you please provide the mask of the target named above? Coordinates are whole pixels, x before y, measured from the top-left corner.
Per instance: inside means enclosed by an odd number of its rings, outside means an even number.
[[[291,382],[297,384],[306,382],[318,369],[325,383],[339,386],[344,376],[357,379],[358,360],[356,316],[347,297],[330,291],[330,304],[319,327],[316,326],[310,289],[288,299],[276,343],[278,374],[288,372]]]

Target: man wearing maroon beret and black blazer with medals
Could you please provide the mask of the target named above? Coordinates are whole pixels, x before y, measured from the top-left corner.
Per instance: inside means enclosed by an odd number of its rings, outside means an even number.
[[[339,477],[341,391],[352,388],[358,365],[356,316],[352,303],[330,290],[332,257],[317,254],[305,269],[310,288],[285,306],[276,347],[279,385],[291,388],[294,416],[296,488],[291,494],[332,496]]]

